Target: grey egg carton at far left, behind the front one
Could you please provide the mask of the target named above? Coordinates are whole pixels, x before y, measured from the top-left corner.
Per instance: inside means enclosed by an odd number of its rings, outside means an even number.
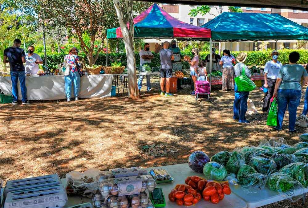
[[[58,174],[7,181],[4,189],[4,196],[12,191],[40,188],[58,184],[62,184]]]

